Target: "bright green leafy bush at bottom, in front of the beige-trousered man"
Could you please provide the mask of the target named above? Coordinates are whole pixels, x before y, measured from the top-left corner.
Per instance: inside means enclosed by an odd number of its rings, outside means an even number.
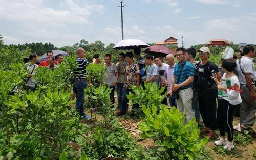
[[[200,130],[195,118],[183,124],[184,115],[178,109],[170,111],[166,105],[142,106],[145,113],[144,122],[139,123],[143,138],[155,140],[155,157],[159,159],[194,159],[208,142],[208,138],[199,140]]]

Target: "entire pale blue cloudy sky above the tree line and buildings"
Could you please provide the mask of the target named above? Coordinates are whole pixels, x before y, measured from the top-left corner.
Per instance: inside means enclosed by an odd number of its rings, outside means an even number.
[[[0,0],[5,44],[52,43],[57,47],[121,40],[121,0]],[[146,43],[172,36],[179,46],[227,39],[256,43],[255,0],[123,0],[124,39]]]

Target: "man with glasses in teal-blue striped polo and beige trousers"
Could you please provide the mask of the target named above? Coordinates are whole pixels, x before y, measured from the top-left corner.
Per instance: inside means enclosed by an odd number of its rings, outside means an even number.
[[[194,67],[185,59],[184,48],[177,49],[176,57],[179,62],[174,67],[169,94],[172,96],[172,93],[175,91],[179,92],[179,99],[176,100],[177,108],[181,113],[185,111],[184,123],[188,123],[188,121],[195,117],[192,109]]]

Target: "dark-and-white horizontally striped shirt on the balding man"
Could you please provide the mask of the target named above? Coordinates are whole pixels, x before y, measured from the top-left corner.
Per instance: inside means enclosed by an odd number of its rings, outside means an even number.
[[[73,70],[76,79],[86,78],[86,66],[89,64],[87,60],[76,58],[75,64],[78,64],[77,68]]]

